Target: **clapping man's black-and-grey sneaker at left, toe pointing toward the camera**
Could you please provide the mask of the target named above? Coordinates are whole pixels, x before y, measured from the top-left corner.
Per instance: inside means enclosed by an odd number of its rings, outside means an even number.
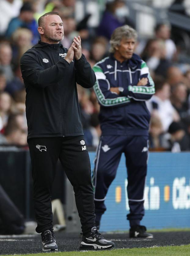
[[[54,232],[46,230],[42,235],[42,250],[45,252],[57,251],[57,244]]]

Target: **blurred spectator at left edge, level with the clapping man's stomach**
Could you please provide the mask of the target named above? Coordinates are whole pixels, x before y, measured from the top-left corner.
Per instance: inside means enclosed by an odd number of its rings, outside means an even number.
[[[9,93],[2,92],[0,93],[0,116],[5,127],[8,121],[9,114],[13,107],[13,99]]]

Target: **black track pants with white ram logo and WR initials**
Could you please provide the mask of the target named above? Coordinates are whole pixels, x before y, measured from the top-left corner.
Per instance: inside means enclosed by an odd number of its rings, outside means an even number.
[[[76,206],[86,233],[95,226],[91,169],[84,136],[31,138],[28,145],[34,181],[36,232],[52,229],[51,190],[58,158],[73,185]]]

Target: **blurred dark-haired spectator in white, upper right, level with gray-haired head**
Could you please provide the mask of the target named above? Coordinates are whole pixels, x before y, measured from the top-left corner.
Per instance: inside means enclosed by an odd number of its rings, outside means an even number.
[[[169,24],[161,23],[155,27],[156,38],[162,39],[166,47],[166,59],[172,60],[176,54],[176,46],[174,41],[170,38],[171,27]]]

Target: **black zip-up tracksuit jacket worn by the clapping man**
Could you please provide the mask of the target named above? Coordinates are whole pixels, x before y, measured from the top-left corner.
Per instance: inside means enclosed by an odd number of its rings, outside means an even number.
[[[69,64],[62,44],[38,44],[20,60],[26,87],[28,137],[83,135],[76,83],[84,88],[96,82],[85,56]]]

